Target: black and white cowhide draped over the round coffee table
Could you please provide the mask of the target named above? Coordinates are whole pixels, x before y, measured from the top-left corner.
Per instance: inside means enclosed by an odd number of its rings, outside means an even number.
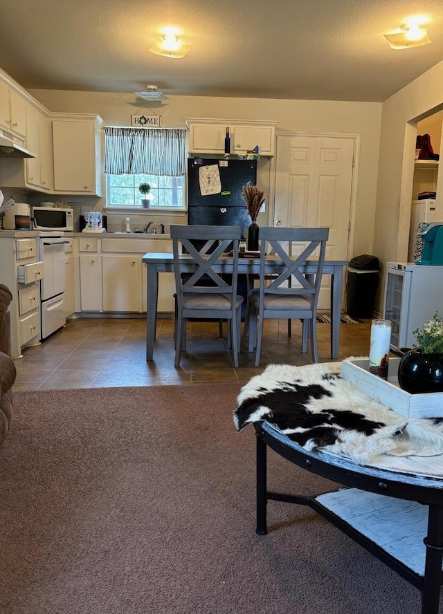
[[[240,391],[234,423],[266,420],[307,450],[355,463],[380,454],[443,454],[443,418],[405,418],[341,378],[341,363],[271,364]]]

